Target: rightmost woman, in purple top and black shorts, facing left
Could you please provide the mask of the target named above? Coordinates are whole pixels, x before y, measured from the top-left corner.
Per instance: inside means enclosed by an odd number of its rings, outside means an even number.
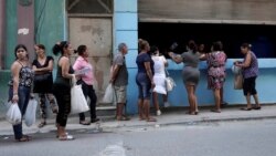
[[[248,43],[243,43],[241,46],[242,54],[245,55],[243,62],[235,62],[236,66],[243,69],[243,92],[246,97],[247,106],[242,108],[243,111],[261,110],[261,104],[258,103],[258,95],[256,91],[256,79],[258,76],[258,61],[256,55],[251,51],[252,45]],[[251,95],[253,95],[255,101],[255,106],[252,107]]]

